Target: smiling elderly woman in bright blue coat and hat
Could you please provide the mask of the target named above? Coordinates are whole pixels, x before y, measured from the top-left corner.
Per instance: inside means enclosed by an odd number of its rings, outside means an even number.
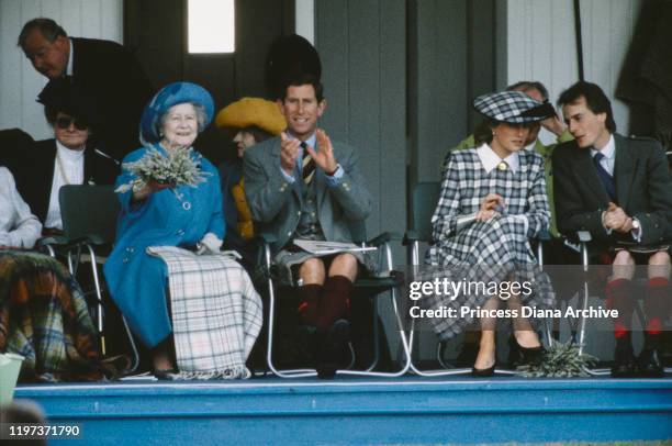
[[[137,161],[152,148],[167,156],[171,150],[191,147],[199,132],[212,120],[213,110],[212,97],[200,86],[175,82],[161,89],[143,113],[141,141],[144,147],[124,158],[124,168],[116,185],[130,183],[137,178],[127,169],[127,163]],[[173,296],[169,297],[175,291],[172,283],[168,287],[167,263],[153,256],[150,247],[188,248],[201,245],[211,253],[219,253],[225,232],[217,169],[195,152],[192,157],[204,172],[204,181],[195,187],[178,186],[171,190],[167,185],[149,182],[119,194],[122,210],[116,242],[104,267],[112,299],[132,331],[152,349],[157,373],[175,369],[171,336],[171,313],[175,309],[170,306]],[[235,265],[227,265],[231,266],[229,275]],[[246,338],[244,342],[244,363],[249,353],[247,350],[251,349],[251,345],[247,344],[254,344],[257,325],[260,327],[261,324],[260,301],[242,268],[235,271],[235,276],[244,281],[246,298],[253,300],[254,314],[246,319],[254,320],[254,326],[246,333],[251,341]],[[219,277],[227,280],[227,276]],[[208,298],[211,296],[203,299]],[[246,308],[249,306],[248,303]],[[189,342],[194,343],[193,339]],[[205,347],[210,348],[209,345]],[[208,355],[212,356],[211,353]],[[198,365],[194,367],[198,368]]]

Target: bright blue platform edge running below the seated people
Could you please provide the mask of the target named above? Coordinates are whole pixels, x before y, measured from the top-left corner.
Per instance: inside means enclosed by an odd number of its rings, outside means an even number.
[[[672,438],[672,379],[253,379],[20,386],[91,445]],[[59,444],[52,441],[51,444]]]

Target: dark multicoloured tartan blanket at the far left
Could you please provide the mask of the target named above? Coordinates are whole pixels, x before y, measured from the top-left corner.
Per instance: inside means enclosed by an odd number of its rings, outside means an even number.
[[[25,358],[22,381],[102,378],[98,335],[83,294],[54,258],[0,252],[0,352]]]

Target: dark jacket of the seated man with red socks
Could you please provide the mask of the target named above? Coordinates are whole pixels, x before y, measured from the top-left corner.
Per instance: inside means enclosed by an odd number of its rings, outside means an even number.
[[[618,134],[614,134],[614,140],[616,204],[639,220],[642,244],[671,241],[672,180],[664,152],[653,140]],[[587,230],[593,239],[607,244],[623,237],[616,232],[608,236],[602,225],[602,212],[611,200],[597,177],[590,149],[578,147],[573,141],[556,147],[553,178],[561,233]],[[625,239],[632,241],[629,235]]]

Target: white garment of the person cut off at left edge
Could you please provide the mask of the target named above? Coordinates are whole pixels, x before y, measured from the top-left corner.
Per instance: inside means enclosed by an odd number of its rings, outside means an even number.
[[[0,246],[32,248],[42,224],[19,194],[14,177],[0,167]]]

